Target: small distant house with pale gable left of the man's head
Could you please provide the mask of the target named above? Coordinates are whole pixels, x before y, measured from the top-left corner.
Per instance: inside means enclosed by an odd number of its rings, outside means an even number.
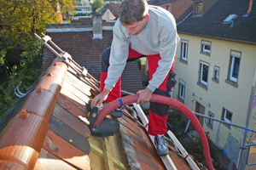
[[[101,10],[102,20],[115,22],[119,18],[119,3],[107,3]]]

